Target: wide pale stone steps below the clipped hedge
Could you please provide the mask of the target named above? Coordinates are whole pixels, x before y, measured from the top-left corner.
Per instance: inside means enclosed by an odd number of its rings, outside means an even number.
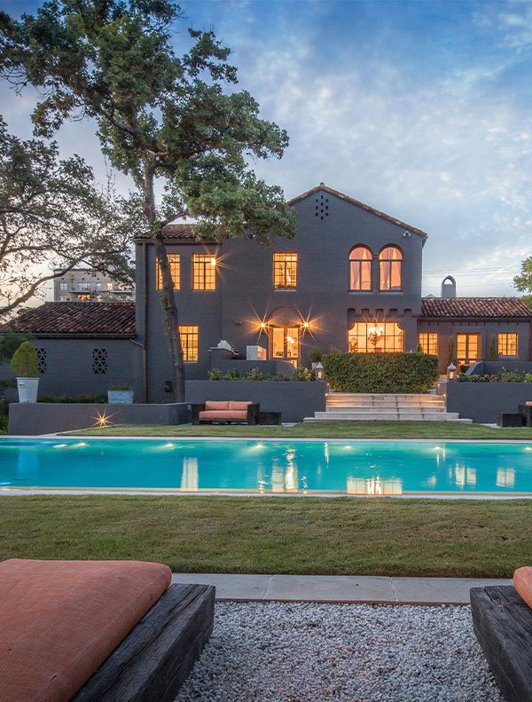
[[[364,394],[355,392],[330,392],[325,412],[305,417],[303,422],[332,421],[396,422],[466,422],[458,413],[447,412],[441,395]]]

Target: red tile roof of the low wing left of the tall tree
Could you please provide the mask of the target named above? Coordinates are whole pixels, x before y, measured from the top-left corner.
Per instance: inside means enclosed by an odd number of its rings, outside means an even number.
[[[35,335],[135,335],[135,303],[44,303],[0,327]]]

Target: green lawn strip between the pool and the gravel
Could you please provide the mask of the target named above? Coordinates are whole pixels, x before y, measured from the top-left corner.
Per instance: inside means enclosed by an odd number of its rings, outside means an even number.
[[[532,502],[4,496],[0,558],[126,558],[182,572],[506,577]]]

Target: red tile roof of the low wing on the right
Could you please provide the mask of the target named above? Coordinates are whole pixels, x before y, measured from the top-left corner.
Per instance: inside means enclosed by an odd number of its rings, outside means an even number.
[[[424,297],[421,317],[532,319],[532,310],[518,297]]]

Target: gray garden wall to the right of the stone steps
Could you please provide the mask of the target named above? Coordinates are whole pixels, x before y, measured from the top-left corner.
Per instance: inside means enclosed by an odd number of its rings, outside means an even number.
[[[473,422],[495,423],[532,400],[532,383],[447,383],[447,411]]]

